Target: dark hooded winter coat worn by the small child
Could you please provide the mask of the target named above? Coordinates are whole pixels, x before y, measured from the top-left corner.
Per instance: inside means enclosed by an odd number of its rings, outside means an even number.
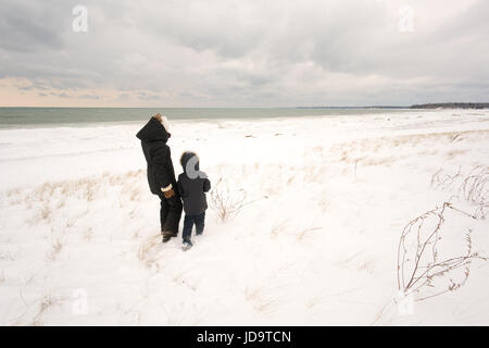
[[[201,175],[196,178],[188,177],[186,173],[188,160],[189,158],[181,158],[184,173],[178,175],[178,192],[184,201],[185,213],[187,215],[198,215],[208,209],[205,192],[211,189],[211,182],[203,172],[200,172]],[[195,169],[199,171],[199,162],[197,162]]]

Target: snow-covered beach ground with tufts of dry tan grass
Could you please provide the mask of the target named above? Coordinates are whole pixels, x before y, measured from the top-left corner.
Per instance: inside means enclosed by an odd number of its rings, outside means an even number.
[[[489,324],[489,262],[422,301],[465,268],[404,301],[397,278],[404,226],[446,201],[440,251],[472,231],[489,254],[460,190],[489,165],[489,111],[174,122],[176,172],[195,150],[214,190],[246,195],[188,251],[161,244],[141,126],[0,130],[0,324]]]

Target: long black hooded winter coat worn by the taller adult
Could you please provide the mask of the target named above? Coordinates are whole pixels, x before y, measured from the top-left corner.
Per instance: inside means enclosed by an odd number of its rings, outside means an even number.
[[[148,162],[148,183],[151,192],[161,196],[161,188],[173,185],[176,189],[175,171],[170,147],[166,145],[171,134],[154,117],[138,132],[142,152]]]

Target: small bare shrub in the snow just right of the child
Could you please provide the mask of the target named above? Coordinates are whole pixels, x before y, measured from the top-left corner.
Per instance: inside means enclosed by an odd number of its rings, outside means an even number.
[[[211,190],[210,206],[224,222],[237,214],[247,204],[246,199],[247,194],[243,189],[231,191],[227,182],[220,178]]]

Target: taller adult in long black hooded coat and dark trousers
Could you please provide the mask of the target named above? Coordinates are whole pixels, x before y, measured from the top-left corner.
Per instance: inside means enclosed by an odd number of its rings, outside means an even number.
[[[166,141],[171,137],[166,117],[155,114],[136,135],[141,140],[148,163],[148,183],[153,195],[160,197],[160,222],[163,243],[176,237],[181,217],[172,156]]]

